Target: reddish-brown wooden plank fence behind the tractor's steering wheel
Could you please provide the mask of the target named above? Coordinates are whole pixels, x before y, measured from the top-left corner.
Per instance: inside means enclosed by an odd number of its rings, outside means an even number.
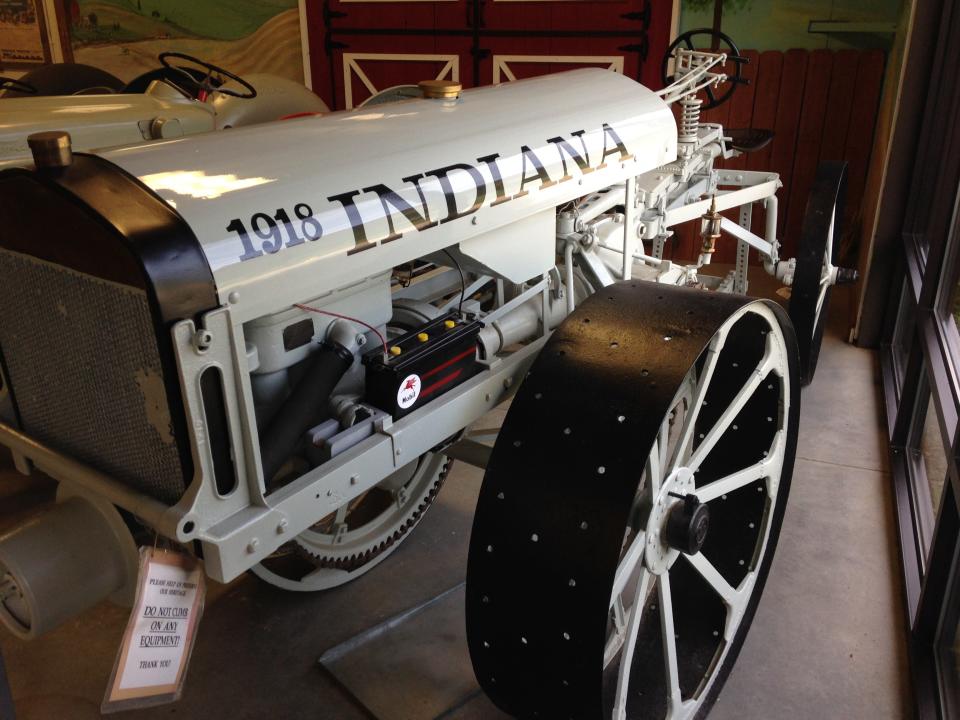
[[[807,195],[822,160],[849,163],[842,247],[858,241],[861,200],[873,149],[874,126],[883,83],[885,53],[881,50],[788,50],[757,53],[740,86],[723,105],[704,112],[705,122],[727,128],[767,128],[774,139],[762,150],[720,161],[718,167],[773,170],[783,187],[779,199],[778,236],[783,257],[794,257]],[[735,218],[736,213],[729,213]],[[763,234],[764,211],[756,206],[753,230]],[[758,230],[759,229],[759,230]],[[667,254],[689,261],[699,252],[699,223],[676,228]],[[672,248],[671,248],[672,246]],[[736,241],[725,236],[714,262],[732,263]],[[755,253],[751,253],[755,256]],[[752,261],[755,261],[755,257]]]

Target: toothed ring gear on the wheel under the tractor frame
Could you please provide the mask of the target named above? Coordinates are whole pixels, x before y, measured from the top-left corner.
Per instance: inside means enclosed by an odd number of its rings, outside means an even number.
[[[416,527],[451,464],[445,455],[425,453],[298,535],[298,550],[318,568],[354,572],[369,564],[395,549]],[[354,518],[358,524],[351,528]]]

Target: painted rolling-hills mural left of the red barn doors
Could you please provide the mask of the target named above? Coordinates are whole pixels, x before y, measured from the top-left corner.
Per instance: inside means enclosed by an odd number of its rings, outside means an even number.
[[[76,62],[129,81],[166,50],[303,82],[297,0],[68,0]]]

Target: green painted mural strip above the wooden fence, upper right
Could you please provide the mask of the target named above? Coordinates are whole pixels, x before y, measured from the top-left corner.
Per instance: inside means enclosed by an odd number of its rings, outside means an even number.
[[[740,48],[887,49],[892,34],[808,32],[811,20],[890,22],[900,19],[902,0],[723,0],[722,30]],[[681,30],[713,26],[714,0],[682,0]]]

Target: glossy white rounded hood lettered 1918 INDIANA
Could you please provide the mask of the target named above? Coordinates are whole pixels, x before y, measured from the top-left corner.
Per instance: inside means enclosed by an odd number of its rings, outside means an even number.
[[[568,97],[578,102],[565,102]],[[549,114],[544,114],[545,107],[551,108]],[[508,117],[504,108],[510,109]],[[611,152],[601,163],[604,143],[608,150],[613,143],[604,124],[622,140],[628,158]],[[581,130],[595,168],[587,174],[548,142],[562,137],[579,149],[571,133]],[[529,157],[524,165],[524,147],[540,158],[551,178],[549,187],[522,183],[524,173],[529,177],[533,172]],[[499,156],[503,195],[513,199],[492,205],[500,193],[490,165],[477,158],[493,154]],[[468,90],[453,102],[411,100],[104,155],[156,190],[187,220],[203,245],[221,299],[226,302],[236,293],[234,318],[244,321],[289,307],[317,288],[359,281],[650,170],[675,157],[676,126],[670,109],[629,78],[577,70]],[[564,162],[572,179],[557,182],[564,176]],[[416,185],[403,178],[461,163],[473,166],[482,178],[483,207],[470,217],[421,232],[396,213],[391,219],[402,238],[348,255],[357,247],[354,230],[344,205],[331,197],[360,191],[355,206],[367,239],[376,243],[388,237],[390,229],[378,196],[364,188],[384,183],[420,208]],[[477,200],[477,183],[466,171],[451,171],[449,183],[458,209],[470,208]],[[424,178],[420,188],[431,219],[447,216],[440,180]],[[292,213],[295,203],[310,206],[323,237],[241,262],[243,247],[227,225],[235,218],[249,225],[257,211],[272,214],[288,208]],[[526,242],[552,247],[554,239],[551,233]],[[275,282],[279,273],[282,283]]]

